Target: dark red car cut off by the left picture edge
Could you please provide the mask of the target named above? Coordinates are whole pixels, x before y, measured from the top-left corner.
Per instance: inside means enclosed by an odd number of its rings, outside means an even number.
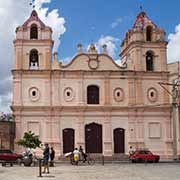
[[[1,162],[21,162],[23,156],[16,154],[9,149],[0,149],[0,161]]]

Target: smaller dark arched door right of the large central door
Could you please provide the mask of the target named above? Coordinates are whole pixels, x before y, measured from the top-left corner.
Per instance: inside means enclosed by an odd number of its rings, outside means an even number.
[[[125,152],[125,130],[122,128],[116,128],[113,131],[114,135],[114,153]]]

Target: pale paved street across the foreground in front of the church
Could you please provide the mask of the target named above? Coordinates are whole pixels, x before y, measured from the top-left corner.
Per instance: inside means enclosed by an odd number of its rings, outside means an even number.
[[[1,167],[0,180],[35,180],[38,167]],[[180,163],[159,164],[95,164],[93,166],[59,164],[43,174],[43,179],[54,180],[179,180]]]

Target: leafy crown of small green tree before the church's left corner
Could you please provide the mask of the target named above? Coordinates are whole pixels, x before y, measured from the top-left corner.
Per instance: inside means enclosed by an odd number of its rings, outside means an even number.
[[[37,147],[40,147],[41,145],[41,141],[39,140],[39,137],[36,136],[31,131],[25,132],[24,137],[22,139],[19,139],[16,143],[20,146],[31,148],[31,149],[36,149]]]

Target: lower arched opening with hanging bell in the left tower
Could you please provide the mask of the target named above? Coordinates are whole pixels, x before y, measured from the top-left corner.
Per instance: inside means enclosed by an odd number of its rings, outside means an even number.
[[[38,57],[38,51],[36,49],[30,51],[29,67],[30,69],[38,69],[39,67],[39,57]]]

